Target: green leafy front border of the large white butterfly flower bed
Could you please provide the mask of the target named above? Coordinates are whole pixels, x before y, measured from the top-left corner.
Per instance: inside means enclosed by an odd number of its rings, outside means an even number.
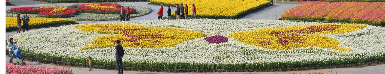
[[[9,56],[8,50],[6,55]],[[24,53],[21,52],[23,58],[28,61],[40,62],[40,63],[53,63],[58,65],[75,66],[75,67],[88,67],[88,59],[80,58],[66,58],[60,56],[52,56],[46,54]],[[345,59],[343,61],[331,61],[331,62],[271,62],[271,63],[244,63],[244,64],[208,64],[208,63],[146,63],[146,62],[123,62],[125,70],[128,71],[157,71],[157,72],[249,72],[249,71],[301,71],[311,69],[329,69],[329,68],[342,68],[352,66],[367,66],[371,64],[384,64],[385,54],[377,57],[368,58],[354,58]],[[97,69],[116,69],[115,61],[105,61],[101,59],[92,59]],[[157,65],[154,65],[157,64]],[[249,64],[249,65],[247,65]],[[153,68],[149,68],[152,66]],[[192,66],[192,67],[191,67]],[[135,68],[134,68],[135,67]],[[252,67],[245,69],[245,67]]]

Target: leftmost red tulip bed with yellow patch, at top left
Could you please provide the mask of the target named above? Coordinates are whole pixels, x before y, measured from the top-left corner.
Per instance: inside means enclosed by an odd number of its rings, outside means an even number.
[[[27,13],[27,14],[39,14],[40,17],[47,17],[47,18],[66,18],[66,17],[73,17],[76,15],[76,10],[72,8],[67,7],[18,7],[18,8],[11,8],[10,12],[15,13]]]

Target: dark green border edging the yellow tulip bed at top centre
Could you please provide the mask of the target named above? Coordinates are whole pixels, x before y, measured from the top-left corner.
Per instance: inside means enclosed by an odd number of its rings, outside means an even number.
[[[243,13],[238,13],[236,16],[223,16],[223,15],[202,16],[202,15],[196,15],[196,17],[213,18],[213,19],[239,19],[239,18],[243,18],[244,16],[249,15],[250,13],[258,12],[258,11],[261,11],[261,10],[267,8],[267,7],[272,6],[273,4],[271,4],[271,2],[273,0],[269,0],[269,1],[270,1],[269,3],[262,4],[258,7],[255,7],[255,8],[250,8]],[[176,5],[176,4],[171,4],[171,3],[161,3],[161,2],[152,2],[152,1],[150,1],[149,4],[153,4],[153,5],[161,5],[162,4],[163,6],[170,6],[170,7],[175,7],[175,5]],[[171,17],[176,17],[176,16],[172,15]]]

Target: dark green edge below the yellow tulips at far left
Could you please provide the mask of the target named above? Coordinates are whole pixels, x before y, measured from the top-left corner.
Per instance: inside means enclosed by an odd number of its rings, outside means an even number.
[[[51,27],[51,26],[60,26],[60,25],[69,25],[69,24],[78,24],[76,21],[57,21],[57,22],[49,22],[49,23],[44,23],[40,25],[29,25],[28,29],[33,29],[33,28],[44,28],[44,27]],[[10,31],[17,31],[17,27],[8,27],[5,28],[5,32],[10,32]]]

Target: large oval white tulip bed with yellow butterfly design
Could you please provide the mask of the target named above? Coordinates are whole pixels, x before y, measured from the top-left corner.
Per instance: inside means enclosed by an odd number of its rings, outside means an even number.
[[[139,20],[65,25],[11,37],[24,56],[81,64],[88,64],[91,56],[95,66],[103,67],[116,67],[114,41],[121,40],[123,67],[144,71],[325,67],[385,60],[385,29],[366,24]]]

